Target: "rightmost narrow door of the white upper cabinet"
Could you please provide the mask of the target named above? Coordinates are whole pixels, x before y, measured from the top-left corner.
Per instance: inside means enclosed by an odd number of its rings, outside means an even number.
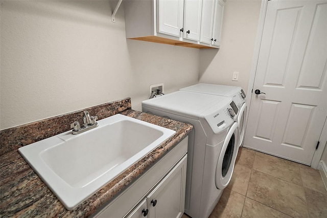
[[[221,23],[224,11],[224,2],[216,0],[215,5],[215,17],[214,17],[214,30],[213,30],[213,46],[220,46],[220,32],[221,32]]]

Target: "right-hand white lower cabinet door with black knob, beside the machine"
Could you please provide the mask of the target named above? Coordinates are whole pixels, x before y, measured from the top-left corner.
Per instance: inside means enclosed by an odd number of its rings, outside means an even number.
[[[185,155],[148,195],[150,217],[181,217],[184,213],[186,162]]]

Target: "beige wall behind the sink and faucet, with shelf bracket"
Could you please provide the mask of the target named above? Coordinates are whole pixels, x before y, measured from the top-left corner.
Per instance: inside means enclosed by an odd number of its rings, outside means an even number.
[[[199,50],[126,39],[117,1],[1,1],[0,129],[198,82]]]

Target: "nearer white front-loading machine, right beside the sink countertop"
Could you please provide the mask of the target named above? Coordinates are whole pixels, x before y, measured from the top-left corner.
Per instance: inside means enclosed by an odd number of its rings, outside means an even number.
[[[238,152],[238,107],[230,97],[177,91],[142,102],[142,111],[191,123],[185,213],[208,217],[228,185]]]

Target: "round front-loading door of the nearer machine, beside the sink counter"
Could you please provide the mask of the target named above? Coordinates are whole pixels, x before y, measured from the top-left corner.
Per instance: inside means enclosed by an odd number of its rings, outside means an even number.
[[[216,187],[219,189],[224,189],[232,176],[239,149],[238,126],[238,123],[235,122],[228,129],[228,133],[220,151],[215,176]]]

